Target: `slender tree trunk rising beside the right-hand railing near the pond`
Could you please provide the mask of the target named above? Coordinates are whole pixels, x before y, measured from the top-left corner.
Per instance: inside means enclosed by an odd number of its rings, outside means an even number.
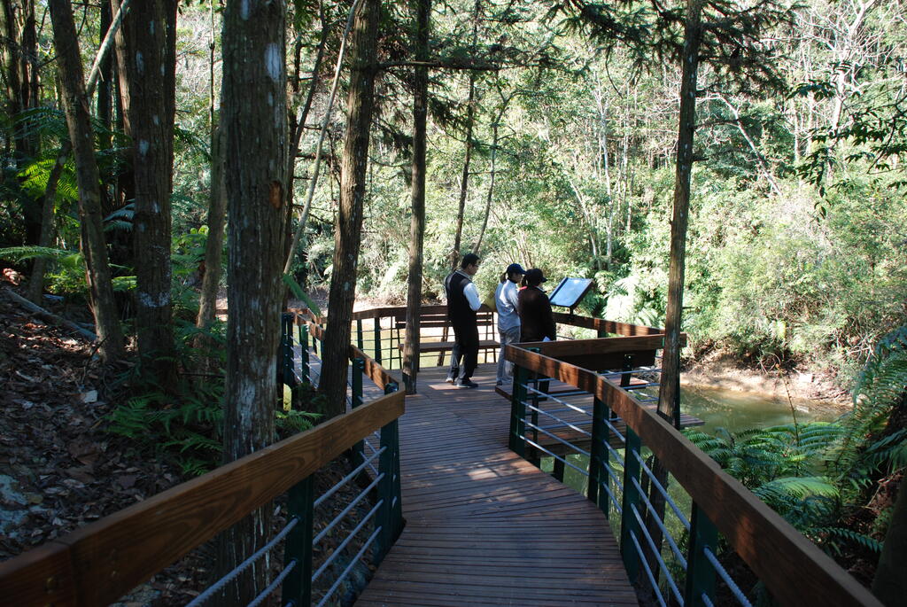
[[[702,0],[687,0],[683,66],[680,83],[677,169],[674,178],[674,218],[671,220],[671,261],[668,269],[668,310],[665,314],[665,348],[662,351],[658,412],[675,425],[680,418],[680,324],[683,313],[684,264],[687,249],[690,174],[696,132],[696,82]]]

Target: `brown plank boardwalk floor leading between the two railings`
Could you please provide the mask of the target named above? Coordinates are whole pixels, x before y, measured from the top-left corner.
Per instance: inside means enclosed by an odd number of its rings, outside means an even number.
[[[406,526],[357,605],[637,605],[600,510],[507,448],[510,404],[424,369],[400,418]]]

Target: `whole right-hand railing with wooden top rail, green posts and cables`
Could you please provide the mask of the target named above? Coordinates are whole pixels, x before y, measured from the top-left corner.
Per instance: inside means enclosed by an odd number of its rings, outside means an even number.
[[[639,369],[628,373],[615,365],[613,372],[599,373],[596,371],[605,367],[590,370],[576,364],[588,360],[593,348],[600,356],[614,356],[613,362],[619,362],[621,344],[650,339],[659,338],[508,346],[505,356],[515,365],[512,449],[538,464],[539,455],[546,452],[539,436],[556,436],[552,428],[564,424],[579,427],[574,421],[577,416],[591,417],[588,451],[573,445],[571,453],[580,457],[561,457],[551,450],[547,455],[588,476],[588,496],[610,517],[619,534],[631,581],[648,580],[662,605],[750,604],[746,592],[739,591],[721,563],[727,549],[746,563],[781,604],[881,605],[672,423],[645,406],[637,396],[639,390],[634,389],[649,382],[645,373],[642,377],[646,379],[631,384],[629,376],[639,376]],[[601,353],[605,342],[610,342],[607,348],[613,348],[610,354]],[[527,346],[541,351],[533,352]],[[560,380],[577,390],[572,396],[568,396],[569,390],[561,391],[561,396],[549,395],[539,387],[539,377]],[[591,406],[578,404],[580,394],[591,397]],[[550,406],[540,406],[540,401]],[[621,426],[626,424],[625,429],[617,427],[618,421]],[[669,477],[653,474],[649,453],[667,468]],[[668,478],[673,479],[669,488]],[[665,502],[673,517],[670,522],[664,515]],[[678,504],[688,505],[681,508]],[[664,548],[662,537],[668,543]]]

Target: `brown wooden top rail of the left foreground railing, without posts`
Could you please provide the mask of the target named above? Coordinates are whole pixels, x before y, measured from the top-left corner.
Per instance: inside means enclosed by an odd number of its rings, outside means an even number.
[[[403,392],[177,485],[0,563],[0,597],[107,605],[404,413]]]

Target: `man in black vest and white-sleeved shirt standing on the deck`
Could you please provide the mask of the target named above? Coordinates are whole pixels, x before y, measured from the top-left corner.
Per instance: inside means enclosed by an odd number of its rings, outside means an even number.
[[[479,327],[475,313],[482,306],[479,291],[473,284],[473,275],[479,271],[479,256],[467,253],[460,269],[444,279],[447,295],[447,319],[453,327],[453,352],[447,383],[456,387],[476,387],[473,372],[479,364]],[[463,364],[461,365],[461,359]]]

